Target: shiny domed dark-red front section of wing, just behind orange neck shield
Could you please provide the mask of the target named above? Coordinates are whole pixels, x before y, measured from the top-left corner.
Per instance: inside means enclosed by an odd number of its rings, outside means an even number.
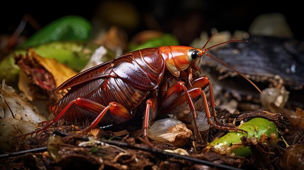
[[[127,83],[140,89],[152,90],[160,84],[165,64],[158,48],[145,48],[116,58],[113,72]]]

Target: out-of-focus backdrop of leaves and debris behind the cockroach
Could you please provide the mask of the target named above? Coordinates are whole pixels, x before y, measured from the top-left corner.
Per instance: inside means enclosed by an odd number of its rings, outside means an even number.
[[[145,47],[201,48],[211,33],[220,32],[208,47],[231,39],[248,42],[219,46],[210,54],[253,80],[263,93],[236,72],[207,58],[200,67],[202,75],[212,80],[216,105],[230,113],[283,113],[294,127],[303,130],[302,6],[291,0],[1,1],[0,82],[5,79],[48,115],[48,100],[58,101],[65,95],[52,95],[56,87],[82,70]],[[7,106],[14,105],[2,104],[7,114],[13,115]],[[299,141],[289,143],[303,143],[303,131],[294,134]]]

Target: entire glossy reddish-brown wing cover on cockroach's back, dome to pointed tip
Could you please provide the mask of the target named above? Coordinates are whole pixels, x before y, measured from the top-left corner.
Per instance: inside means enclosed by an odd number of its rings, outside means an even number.
[[[158,48],[127,53],[89,68],[62,83],[54,93],[102,77],[120,77],[141,89],[155,89],[164,74],[165,64]]]

